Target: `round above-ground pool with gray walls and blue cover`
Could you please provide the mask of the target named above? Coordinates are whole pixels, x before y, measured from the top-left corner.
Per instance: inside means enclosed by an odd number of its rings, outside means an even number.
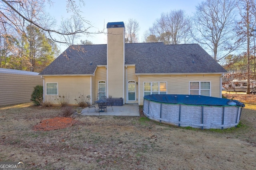
[[[237,100],[200,95],[151,94],[144,96],[143,113],[168,125],[201,129],[236,127],[242,107]]]

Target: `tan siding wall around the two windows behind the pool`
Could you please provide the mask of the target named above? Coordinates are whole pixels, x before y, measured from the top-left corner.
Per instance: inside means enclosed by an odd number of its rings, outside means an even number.
[[[189,94],[189,82],[210,82],[211,96],[220,98],[220,74],[140,76],[140,105],[143,105],[144,82],[167,82],[167,94]]]

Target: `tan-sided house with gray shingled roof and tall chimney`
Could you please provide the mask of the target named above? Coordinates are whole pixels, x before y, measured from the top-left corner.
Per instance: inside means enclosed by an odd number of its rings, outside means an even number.
[[[108,23],[107,33],[107,44],[72,45],[39,74],[45,99],[67,94],[75,104],[82,93],[91,102],[107,96],[143,105],[148,94],[222,97],[227,71],[200,45],[126,44],[123,22]]]

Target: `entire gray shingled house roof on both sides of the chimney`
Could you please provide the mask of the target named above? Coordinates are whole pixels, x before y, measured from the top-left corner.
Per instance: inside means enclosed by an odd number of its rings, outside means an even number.
[[[136,74],[227,72],[198,44],[125,44],[125,59],[125,64],[135,64]],[[40,75],[93,74],[97,65],[106,64],[106,44],[74,45],[66,49]]]

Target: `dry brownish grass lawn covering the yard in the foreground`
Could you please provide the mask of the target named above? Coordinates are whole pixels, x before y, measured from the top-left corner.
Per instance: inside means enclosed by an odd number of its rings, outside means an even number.
[[[59,117],[61,109],[31,103],[2,106],[0,161],[22,161],[27,170],[252,170],[253,101],[242,109],[239,127],[225,130],[173,127],[141,114],[76,115],[63,129],[35,131],[40,122],[52,126],[44,120]]]

